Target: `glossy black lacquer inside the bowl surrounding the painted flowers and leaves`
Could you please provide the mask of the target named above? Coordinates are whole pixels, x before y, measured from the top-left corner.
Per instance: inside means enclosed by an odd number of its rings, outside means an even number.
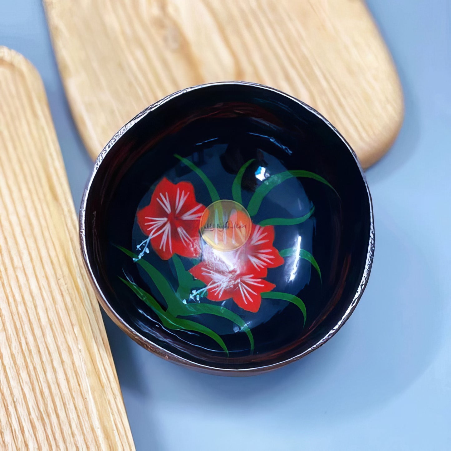
[[[210,325],[224,334],[230,350],[227,358],[206,336],[166,330],[152,310],[120,282],[118,276],[127,273],[152,290],[152,283],[137,265],[114,246],[132,249],[140,239],[135,215],[138,206],[148,200],[152,186],[168,173],[199,183],[174,153],[192,159],[225,198],[236,172],[251,158],[256,161],[243,179],[244,200],[261,183],[254,175],[258,166],[266,165],[273,173],[312,171],[334,187],[336,192],[312,179],[290,179],[276,188],[276,196],[258,213],[258,219],[286,216],[300,197],[316,207],[312,221],[291,231],[278,231],[274,243],[278,249],[287,248],[297,234],[302,236],[321,267],[322,283],[306,261],[299,263],[290,283],[286,278],[282,281],[282,268],[274,268],[268,276],[303,299],[308,311],[304,328],[299,309],[285,301],[274,300],[277,308],[269,311],[262,306],[252,317],[242,312],[252,322],[256,343],[255,352],[249,354],[245,334],[234,333],[219,319],[211,319]],[[208,204],[208,199],[198,200]],[[301,354],[341,321],[364,274],[370,209],[367,187],[353,154],[324,119],[298,101],[264,87],[210,85],[172,97],[142,115],[110,148],[87,195],[87,257],[110,308],[140,336],[198,364],[258,368]],[[165,268],[162,272],[170,279],[170,268]]]

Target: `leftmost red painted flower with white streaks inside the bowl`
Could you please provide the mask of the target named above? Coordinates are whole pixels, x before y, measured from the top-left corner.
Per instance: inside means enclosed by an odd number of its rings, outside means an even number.
[[[137,213],[141,230],[163,260],[174,253],[183,257],[199,255],[199,220],[205,206],[196,201],[189,182],[171,183],[164,178],[156,186],[147,207]]]

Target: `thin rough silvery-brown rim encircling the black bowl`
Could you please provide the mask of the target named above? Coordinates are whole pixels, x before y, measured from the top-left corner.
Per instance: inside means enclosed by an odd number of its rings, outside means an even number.
[[[360,171],[360,175],[362,176],[362,179],[365,184],[365,189],[368,195],[368,203],[369,203],[369,215],[370,215],[370,230],[369,230],[369,237],[368,237],[368,251],[367,251],[367,258],[365,261],[365,268],[364,273],[362,275],[362,279],[359,283],[358,289],[354,295],[354,298],[350,302],[350,305],[346,309],[345,313],[343,314],[342,318],[337,322],[336,326],[332,327],[330,331],[327,332],[325,336],[322,337],[321,340],[319,340],[314,345],[310,346],[307,350],[304,350],[303,352],[290,357],[289,359],[281,360],[279,362],[268,364],[268,365],[260,365],[257,367],[250,367],[250,368],[222,368],[220,364],[218,365],[207,365],[207,364],[200,364],[198,362],[194,362],[188,358],[180,357],[178,354],[175,354],[171,351],[166,350],[165,348],[156,345],[154,342],[150,341],[146,337],[139,334],[137,331],[135,331],[132,327],[130,327],[116,312],[115,310],[110,306],[110,303],[108,302],[108,299],[102,292],[98,282],[97,278],[94,275],[94,272],[92,271],[91,263],[89,261],[88,253],[87,253],[87,244],[86,244],[86,230],[85,230],[85,220],[86,220],[86,208],[87,208],[87,201],[90,194],[90,189],[92,186],[92,183],[97,175],[97,171],[99,167],[102,164],[102,161],[104,160],[105,156],[108,152],[110,152],[111,148],[115,145],[115,143],[118,141],[118,139],[126,133],[129,129],[133,127],[134,124],[136,124],[139,120],[143,119],[144,116],[151,113],[152,111],[156,110],[159,106],[163,105],[164,103],[174,99],[175,97],[179,97],[183,95],[184,93],[195,91],[197,89],[203,89],[206,87],[212,87],[212,86],[250,86],[250,87],[256,87],[265,91],[273,92],[276,94],[279,94],[283,97],[286,97],[290,101],[295,101],[300,106],[306,108],[309,112],[316,115],[319,119],[321,119],[324,124],[326,124],[329,128],[331,128],[336,135],[341,139],[341,141],[345,144],[345,147],[349,150],[351,155],[354,157],[355,164],[357,165],[357,168]],[[92,175],[89,178],[86,188],[83,193],[82,202],[80,205],[80,211],[79,211],[79,237],[80,237],[80,247],[83,254],[83,260],[85,263],[85,267],[87,269],[87,272],[91,278],[92,285],[94,286],[94,289],[96,291],[97,300],[101,304],[102,308],[105,310],[107,315],[115,322],[117,326],[120,327],[122,331],[124,331],[130,338],[132,338],[134,341],[136,341],[139,345],[143,346],[143,348],[151,351],[152,353],[166,359],[170,360],[172,362],[175,362],[177,364],[181,364],[184,366],[187,366],[189,368],[204,372],[204,373],[212,373],[212,374],[221,374],[221,375],[228,375],[228,376],[246,376],[251,374],[259,374],[267,371],[274,370],[276,368],[280,368],[282,366],[285,366],[291,362],[294,362],[296,360],[301,359],[302,357],[306,356],[307,354],[310,354],[314,350],[318,349],[320,346],[322,346],[324,343],[329,341],[332,336],[334,336],[337,331],[345,324],[345,322],[348,320],[350,315],[354,312],[355,307],[359,303],[360,298],[363,295],[363,292],[365,290],[365,287],[368,283],[368,278],[371,272],[371,267],[373,265],[373,257],[374,257],[374,245],[375,245],[375,235],[374,235],[374,216],[373,216],[373,202],[371,199],[371,194],[368,188],[368,183],[364,174],[364,170],[362,169],[362,166],[360,165],[360,162],[354,152],[354,150],[350,147],[349,143],[345,140],[345,138],[341,135],[341,133],[317,110],[312,108],[311,106],[307,105],[303,101],[300,101],[296,97],[290,96],[289,94],[286,94],[283,91],[280,91],[279,89],[269,87],[260,83],[252,83],[252,82],[245,82],[245,81],[221,81],[221,82],[213,82],[213,83],[203,83],[196,86],[188,87],[185,89],[181,89],[179,91],[176,91],[172,94],[169,94],[166,97],[163,97],[161,100],[156,101],[152,105],[145,108],[143,111],[138,113],[132,120],[130,120],[127,124],[125,124],[123,127],[121,127],[113,136],[113,138],[110,139],[110,141],[106,144],[106,146],[103,148],[99,156],[97,157],[97,160],[94,164],[94,168],[92,170]]]

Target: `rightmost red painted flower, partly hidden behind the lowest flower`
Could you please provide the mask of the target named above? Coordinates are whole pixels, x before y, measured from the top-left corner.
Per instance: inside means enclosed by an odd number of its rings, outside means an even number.
[[[252,224],[249,239],[237,250],[240,271],[265,277],[267,268],[283,265],[284,259],[272,245],[273,241],[273,226],[261,227]]]

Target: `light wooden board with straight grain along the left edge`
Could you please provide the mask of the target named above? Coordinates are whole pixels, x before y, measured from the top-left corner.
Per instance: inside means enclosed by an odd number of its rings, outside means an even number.
[[[0,449],[133,449],[44,87],[0,47]]]

